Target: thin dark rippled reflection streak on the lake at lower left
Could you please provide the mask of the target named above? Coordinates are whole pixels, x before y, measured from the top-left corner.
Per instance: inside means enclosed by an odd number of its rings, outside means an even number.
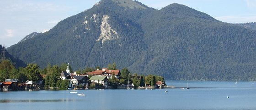
[[[75,102],[80,100],[67,100],[67,99],[59,99],[59,100],[0,100],[0,103],[16,103],[16,102]]]

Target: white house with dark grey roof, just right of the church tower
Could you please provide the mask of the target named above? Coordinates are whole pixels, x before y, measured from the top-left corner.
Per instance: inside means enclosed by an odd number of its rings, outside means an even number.
[[[75,85],[85,86],[89,78],[85,75],[70,75],[72,87],[74,88]]]

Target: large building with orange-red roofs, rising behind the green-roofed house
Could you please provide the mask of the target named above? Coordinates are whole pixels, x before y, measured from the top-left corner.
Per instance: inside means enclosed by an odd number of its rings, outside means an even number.
[[[95,70],[92,72],[85,73],[84,75],[89,76],[107,76],[108,79],[112,78],[112,75],[115,74],[116,78],[119,79],[121,72],[120,70],[108,70],[107,68],[102,68],[102,70]]]

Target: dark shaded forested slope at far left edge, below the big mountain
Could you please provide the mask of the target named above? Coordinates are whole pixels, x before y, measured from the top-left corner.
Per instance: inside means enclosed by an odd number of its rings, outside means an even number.
[[[5,54],[4,54],[5,51]],[[27,66],[22,60],[19,60],[17,58],[14,58],[11,54],[8,53],[8,51],[5,50],[5,47],[3,47],[2,45],[0,45],[0,60],[3,60],[5,56],[5,59],[7,60],[11,60],[11,62],[14,63],[16,68],[19,67],[25,67]]]

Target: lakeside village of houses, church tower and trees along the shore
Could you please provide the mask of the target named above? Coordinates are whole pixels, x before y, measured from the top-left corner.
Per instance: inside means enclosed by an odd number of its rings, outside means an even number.
[[[45,85],[47,75],[38,75],[38,80],[27,80],[26,82],[18,79],[5,79],[0,82],[0,91],[14,90],[60,90]],[[130,74],[127,68],[111,70],[109,68],[97,68],[83,74],[70,71],[69,64],[66,71],[59,73],[59,80],[67,82],[62,90],[88,90],[88,89],[158,89],[163,88],[165,80],[163,77],[155,75]],[[57,84],[58,85],[58,84]]]

